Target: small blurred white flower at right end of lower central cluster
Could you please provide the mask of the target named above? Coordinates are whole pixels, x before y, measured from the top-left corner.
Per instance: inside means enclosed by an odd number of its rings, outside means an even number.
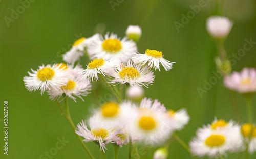
[[[168,110],[166,114],[168,117],[168,125],[170,126],[170,129],[174,131],[183,129],[189,121],[189,116],[185,109],[180,109],[178,111]]]

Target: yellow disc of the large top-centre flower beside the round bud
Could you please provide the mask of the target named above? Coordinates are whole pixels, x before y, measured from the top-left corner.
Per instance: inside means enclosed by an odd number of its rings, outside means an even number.
[[[105,39],[102,42],[102,48],[105,51],[111,52],[111,53],[115,53],[117,51],[119,51],[122,48],[122,43],[120,40],[118,39]]]

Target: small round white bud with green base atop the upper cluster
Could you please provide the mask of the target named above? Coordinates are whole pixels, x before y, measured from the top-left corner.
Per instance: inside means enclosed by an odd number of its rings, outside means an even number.
[[[128,39],[138,41],[141,37],[142,31],[138,25],[129,25],[125,31],[125,35]]]

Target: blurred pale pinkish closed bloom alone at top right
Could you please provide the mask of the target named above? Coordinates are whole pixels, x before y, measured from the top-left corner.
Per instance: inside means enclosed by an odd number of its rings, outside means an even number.
[[[211,16],[207,19],[206,29],[214,38],[225,38],[228,36],[232,25],[227,17]]]

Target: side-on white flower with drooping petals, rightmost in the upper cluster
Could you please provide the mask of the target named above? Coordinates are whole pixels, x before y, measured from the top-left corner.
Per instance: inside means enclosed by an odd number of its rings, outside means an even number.
[[[135,63],[141,63],[142,65],[153,67],[155,70],[158,69],[160,71],[160,64],[164,67],[166,71],[173,68],[173,64],[176,62],[170,62],[163,58],[163,54],[160,51],[156,50],[149,50],[147,49],[145,51],[145,54],[139,54],[135,53],[135,55],[132,57],[133,62]]]

